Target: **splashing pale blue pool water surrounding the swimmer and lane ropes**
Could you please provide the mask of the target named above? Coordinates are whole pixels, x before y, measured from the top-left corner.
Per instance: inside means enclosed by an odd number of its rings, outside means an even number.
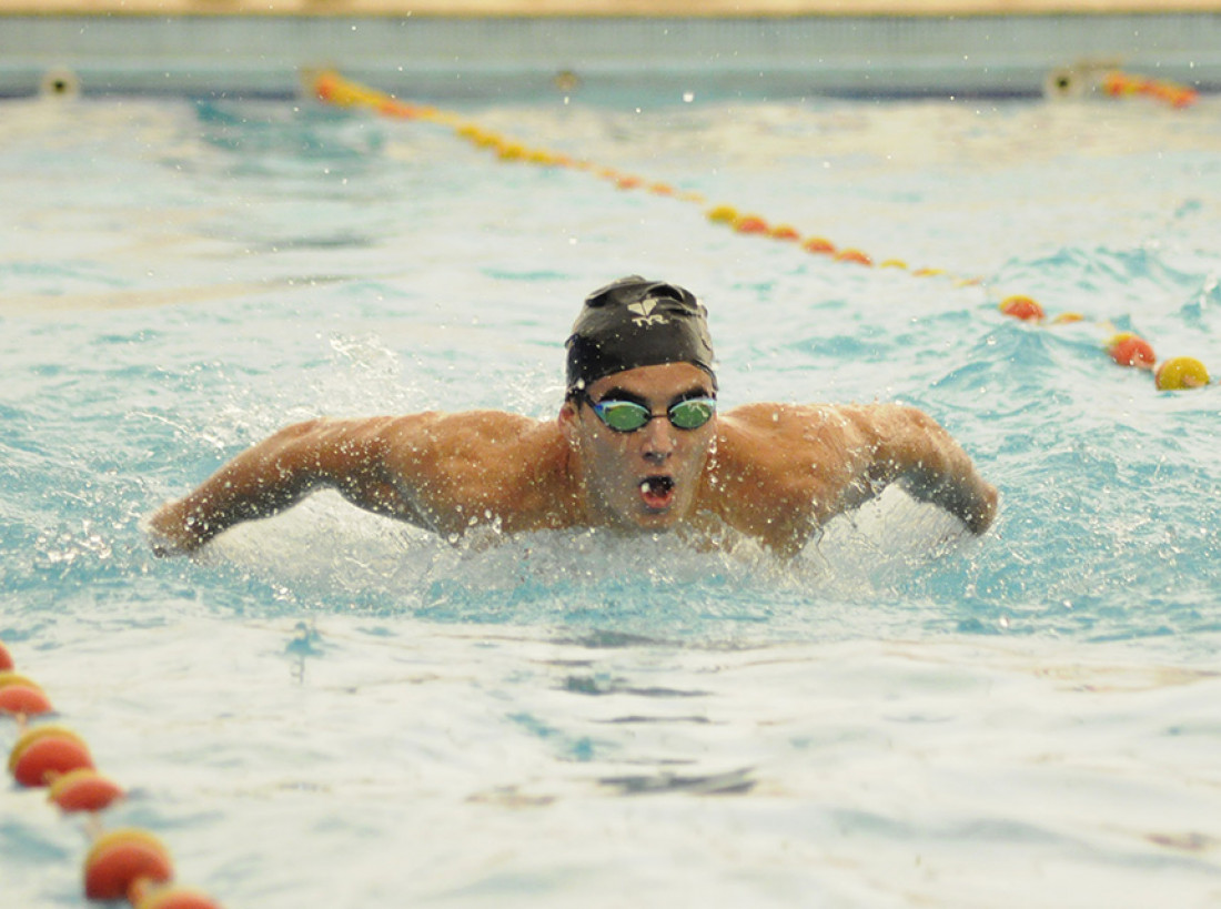
[[[427,124],[4,104],[0,639],[132,788],[106,825],[230,907],[1221,903],[1221,398],[1100,347],[1221,372],[1216,99],[462,112],[983,283]],[[705,299],[726,406],[928,410],[995,528],[886,495],[780,564],[451,547],[324,494],[195,561],[145,547],[293,420],[549,416],[579,300],[630,272]],[[82,905],[87,842],[0,792],[5,904]]]

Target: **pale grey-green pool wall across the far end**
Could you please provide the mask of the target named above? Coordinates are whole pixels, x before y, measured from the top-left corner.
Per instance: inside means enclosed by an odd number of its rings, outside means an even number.
[[[1221,13],[0,16],[4,96],[38,93],[53,71],[72,73],[85,94],[283,96],[303,67],[319,66],[444,99],[554,95],[560,72],[579,78],[567,92],[579,85],[595,101],[668,87],[1033,95],[1050,72],[1083,61],[1215,90]]]

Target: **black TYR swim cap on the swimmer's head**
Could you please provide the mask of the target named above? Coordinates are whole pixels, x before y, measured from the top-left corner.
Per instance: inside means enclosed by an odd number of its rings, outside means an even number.
[[[689,362],[712,376],[708,311],[678,284],[639,275],[585,298],[568,339],[568,393],[639,366]]]

